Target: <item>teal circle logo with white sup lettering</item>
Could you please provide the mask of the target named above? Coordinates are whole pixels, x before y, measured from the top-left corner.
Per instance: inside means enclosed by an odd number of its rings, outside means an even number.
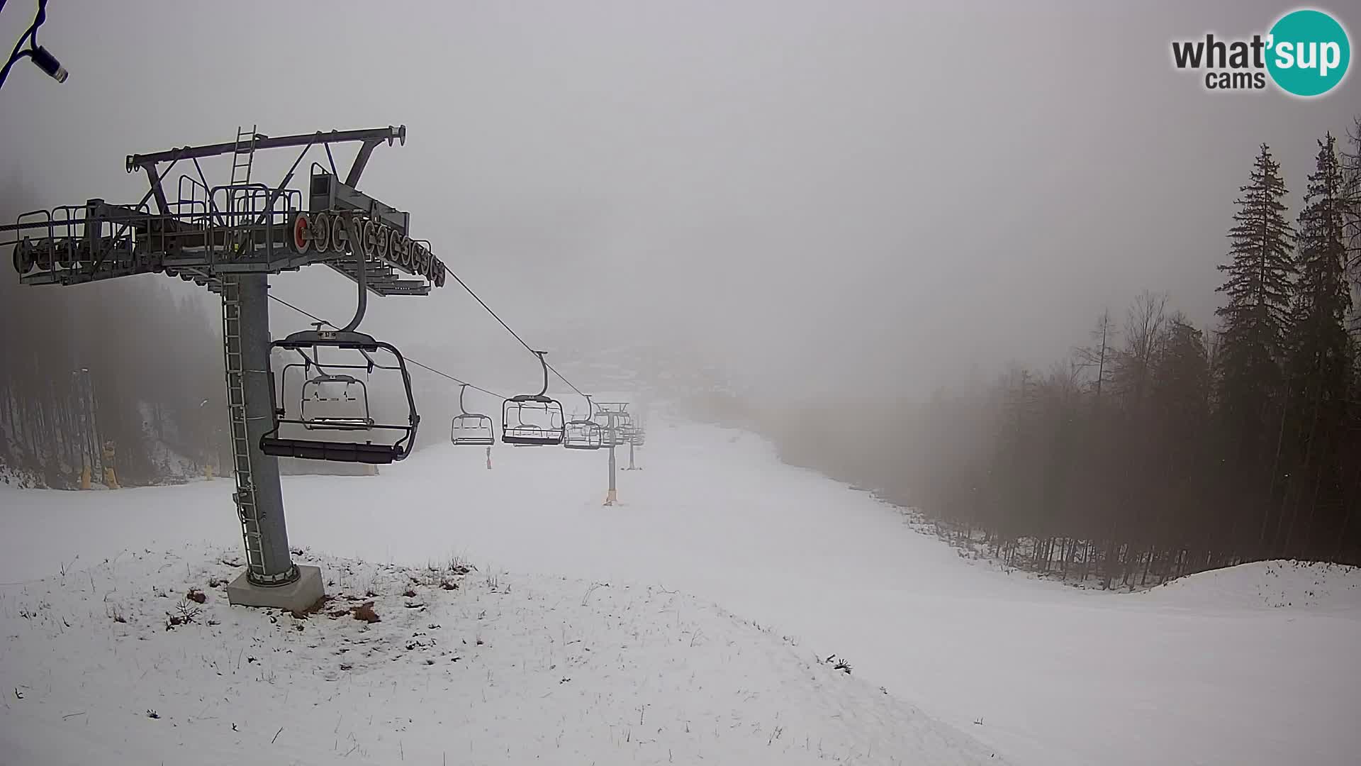
[[[1347,31],[1323,11],[1292,11],[1268,33],[1267,71],[1292,95],[1323,95],[1347,74]]]

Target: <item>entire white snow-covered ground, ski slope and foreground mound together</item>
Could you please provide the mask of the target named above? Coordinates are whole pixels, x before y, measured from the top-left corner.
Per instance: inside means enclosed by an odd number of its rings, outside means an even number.
[[[479,570],[456,592],[418,587],[415,601],[427,601],[429,620],[411,616],[403,597],[380,589],[377,608],[385,620],[392,615],[407,622],[392,628],[389,622],[377,623],[372,630],[392,630],[392,635],[429,632],[434,646],[408,650],[401,643],[396,650],[384,649],[403,658],[387,664],[370,660],[366,675],[350,671],[342,680],[324,680],[339,667],[328,654],[336,649],[333,638],[359,635],[354,620],[324,619],[298,631],[301,638],[290,637],[294,643],[289,645],[289,660],[271,668],[276,673],[317,668],[313,673],[321,680],[294,686],[291,694],[301,694],[306,705],[316,703],[317,716],[329,720],[325,725],[320,718],[297,722],[306,733],[299,732],[302,739],[290,740],[279,751],[284,758],[280,762],[329,762],[327,758],[344,756],[357,743],[361,750],[348,755],[351,762],[362,752],[374,762],[391,762],[393,754],[401,752],[410,759],[412,743],[422,754],[415,762],[436,762],[431,754],[444,735],[430,731],[440,725],[427,716],[407,714],[411,720],[406,721],[404,710],[430,713],[444,721],[442,726],[450,721],[480,726],[478,736],[464,731],[450,740],[464,748],[464,758],[457,761],[453,751],[448,752],[452,762],[523,762],[513,755],[534,752],[563,763],[693,763],[702,755],[705,762],[720,763],[788,763],[821,756],[856,763],[1004,758],[1033,766],[1341,766],[1356,763],[1361,752],[1361,728],[1356,726],[1356,710],[1361,709],[1361,574],[1354,570],[1277,562],[1204,572],[1147,593],[1082,590],[965,562],[935,538],[915,532],[894,508],[813,472],[780,463],[768,443],[749,433],[655,414],[648,446],[637,459],[644,470],[618,474],[622,504],[615,507],[602,507],[607,478],[603,453],[498,446],[493,451],[494,469],[486,470],[482,448],[434,447],[385,468],[378,477],[286,477],[294,547],[415,567],[461,555]],[[626,450],[621,451],[621,465],[627,465]],[[86,626],[82,630],[101,637],[129,630],[106,617],[101,581],[117,582],[127,608],[139,609],[146,619],[170,609],[167,600],[150,596],[151,585],[182,589],[203,581],[212,567],[210,557],[196,553],[200,545],[229,551],[240,545],[229,493],[227,481],[120,492],[0,491],[0,581],[48,577],[63,566],[68,572],[82,570],[128,551],[114,562],[120,574],[101,575],[95,570],[94,585],[67,574],[0,589],[3,680],[14,686],[10,681],[23,673],[23,683],[34,687],[31,696],[46,694],[46,683],[53,688],[82,683],[61,680],[61,673],[69,671],[57,661],[59,652],[83,643],[61,638],[72,628],[60,622],[57,604],[69,612],[68,622],[75,615]],[[137,567],[155,570],[162,564],[144,553],[147,549],[174,551],[178,557],[170,559],[155,578],[142,581],[135,577]],[[129,560],[137,563],[124,570]],[[323,563],[328,571],[354,566],[339,559]],[[512,585],[509,594],[485,582],[493,568],[506,570],[501,579]],[[397,570],[389,574],[408,577]],[[354,593],[361,587],[355,577],[331,592],[362,596]],[[597,587],[583,605],[592,582],[608,586]],[[265,705],[261,710],[280,710],[283,716],[284,688],[264,690],[257,683],[250,687],[255,691],[242,691],[229,676],[206,675],[215,672],[212,665],[210,671],[199,667],[211,658],[220,668],[226,662],[220,650],[225,642],[237,646],[241,641],[260,641],[265,647],[260,652],[286,652],[279,643],[283,638],[271,638],[280,632],[278,624],[226,609],[216,593],[208,596],[207,607],[220,626],[165,631],[158,624],[161,632],[140,645],[151,647],[148,656],[165,658],[157,671],[162,679],[157,692],[182,702],[163,703],[174,705],[174,722],[185,726],[189,717],[203,721],[204,716],[220,721],[223,709],[250,709],[255,701]],[[607,598],[596,601],[600,596]],[[136,601],[139,597],[148,601]],[[78,605],[72,598],[82,600]],[[668,601],[672,598],[683,601]],[[479,605],[483,601],[486,607]],[[41,602],[52,604],[42,616],[19,616],[20,608],[34,615]],[[680,602],[683,608],[674,609]],[[475,623],[483,609],[497,615],[495,630],[504,631],[491,646],[509,643],[517,647],[513,653],[490,660],[463,647],[464,639],[476,646],[468,634],[479,630]],[[550,626],[548,632],[558,626],[559,635],[540,638],[527,627],[535,622]],[[193,630],[220,632],[231,626],[231,637],[210,632],[186,638]],[[542,690],[517,681],[517,702],[501,696],[491,707],[474,711],[489,669],[493,680],[517,672],[558,673],[569,656],[580,657],[574,645],[563,643],[572,637],[562,626],[578,626],[584,639],[589,634],[588,641],[610,643],[618,656],[611,656],[614,664],[562,673],[592,673],[591,694],[581,686],[568,692],[576,679],[554,679],[558,688],[550,690],[546,676],[536,676],[532,684],[546,684]],[[691,647],[694,635],[701,638]],[[713,643],[704,643],[706,637]],[[306,643],[297,643],[302,639],[318,646],[302,649]],[[418,639],[425,637],[408,641]],[[129,688],[146,683],[136,679],[147,662],[137,643],[110,641],[106,645],[114,647],[109,652],[117,652],[120,668],[142,668],[136,673],[106,673],[109,683],[117,681],[120,694],[131,694]],[[438,676],[430,676],[429,691],[415,688],[412,684],[426,679],[419,675],[419,662],[411,667],[408,657],[423,661],[430,652],[467,652],[459,662],[448,660],[460,672],[471,668],[463,662],[474,658],[486,667],[472,687],[467,686],[472,683],[468,676],[460,681],[460,676],[440,669]],[[695,654],[687,660],[687,652]],[[750,662],[739,658],[739,652]],[[655,657],[640,658],[646,653]],[[851,662],[849,677],[814,661],[815,656],[833,653]],[[444,657],[448,654],[434,656],[436,668]],[[516,665],[508,667],[512,662]],[[182,679],[167,676],[166,665]],[[189,671],[186,665],[196,667]],[[393,669],[387,672],[378,665]],[[557,668],[544,671],[551,665]],[[697,679],[708,679],[701,684],[704,695],[687,696],[698,692],[676,672],[682,667]],[[355,668],[365,669],[358,664]],[[191,675],[197,680],[189,680]],[[653,675],[655,680],[642,680]],[[50,677],[59,680],[46,680]],[[240,680],[240,672],[235,677]],[[836,680],[851,683],[829,686]],[[498,687],[501,694],[506,684]],[[879,691],[881,686],[887,694]],[[343,710],[335,709],[340,698],[317,699],[325,690],[348,695]],[[554,702],[527,707],[531,691],[550,694],[546,699]],[[79,696],[61,698],[60,710],[38,714],[16,707],[31,702],[31,696],[19,702],[12,690],[8,694],[5,737],[22,729],[18,736],[29,747],[42,736],[61,736],[67,722],[84,717],[60,717],[80,711]],[[365,702],[370,694],[373,703]],[[457,716],[441,713],[444,694],[459,707]],[[558,696],[563,694],[568,696]],[[191,710],[189,702],[200,696],[204,702]],[[142,706],[131,696],[125,702]],[[372,705],[367,711],[377,716],[374,721],[388,720],[391,725],[357,728],[352,721],[366,710],[365,705]],[[208,713],[201,711],[204,706]],[[630,706],[644,710],[630,713]],[[704,709],[710,728],[717,721],[715,736],[702,743],[683,740],[685,733],[674,728],[683,728],[678,717],[695,706]],[[638,718],[651,724],[655,711],[663,709],[666,721],[656,720],[661,732],[637,724],[627,731],[619,728]],[[336,728],[338,713],[351,718],[350,728],[343,720]],[[524,729],[501,718],[519,714],[528,716]],[[264,721],[272,718],[263,711],[253,716],[249,736],[230,732],[230,726],[222,736],[241,736],[240,741],[250,743],[274,736],[274,731],[257,731],[269,728]],[[785,720],[789,725],[781,722]],[[137,720],[127,725],[140,731],[143,724]],[[287,733],[284,718],[272,726],[279,725]],[[411,739],[401,739],[401,726]],[[772,740],[776,728],[784,733]],[[822,748],[815,741],[804,743],[796,729],[822,731]],[[729,731],[747,733],[740,744],[717,739]],[[395,746],[385,732],[401,743]],[[351,733],[354,741],[346,739]],[[380,735],[381,741],[376,739]],[[637,750],[619,750],[615,740],[621,736],[645,736],[648,744],[626,741]],[[534,747],[542,750],[512,746],[513,752],[493,752],[483,747],[495,737],[521,744],[534,740]],[[554,755],[557,737],[570,741],[572,750],[562,751],[562,758]],[[279,741],[284,739],[279,736]],[[751,744],[757,740],[765,750]],[[230,750],[238,740],[211,741]],[[471,759],[465,758],[470,741],[475,754]],[[781,741],[784,750],[770,750]]]

